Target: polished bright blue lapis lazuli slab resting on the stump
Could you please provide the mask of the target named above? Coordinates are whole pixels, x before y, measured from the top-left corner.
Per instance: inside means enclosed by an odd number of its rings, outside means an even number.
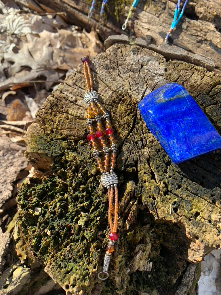
[[[221,136],[185,88],[168,83],[145,96],[138,109],[174,164],[221,148]]]

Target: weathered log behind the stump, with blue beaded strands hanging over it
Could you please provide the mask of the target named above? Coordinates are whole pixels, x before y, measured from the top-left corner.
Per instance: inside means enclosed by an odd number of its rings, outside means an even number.
[[[126,31],[121,29],[132,1],[111,1],[106,4],[107,21],[100,23],[100,6],[97,2],[93,16],[87,14],[91,1],[39,0],[57,12],[65,12],[67,21],[90,30],[94,28],[105,40],[110,35],[126,34],[141,37],[149,43],[162,44],[169,30],[175,1],[140,1]],[[126,3],[126,6],[125,6]],[[169,38],[169,43],[190,53],[203,54],[215,60],[218,72],[221,70],[221,2],[219,0],[193,0],[186,6],[184,16]]]

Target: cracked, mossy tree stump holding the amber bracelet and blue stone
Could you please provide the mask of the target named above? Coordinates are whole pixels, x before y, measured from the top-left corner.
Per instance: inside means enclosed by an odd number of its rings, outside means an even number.
[[[38,176],[20,188],[19,225],[66,294],[191,294],[199,262],[221,245],[221,153],[172,164],[137,103],[179,83],[220,131],[221,76],[214,67],[204,56],[140,39],[130,44],[125,36],[108,38],[105,52],[91,58],[94,89],[119,145],[119,240],[104,282],[97,274],[108,242],[108,204],[85,140],[83,66],[39,109],[25,138]]]

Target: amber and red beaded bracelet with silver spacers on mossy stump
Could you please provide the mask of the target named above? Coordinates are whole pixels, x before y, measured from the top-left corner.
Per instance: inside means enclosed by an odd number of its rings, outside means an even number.
[[[118,239],[117,223],[118,223],[118,177],[114,172],[117,157],[117,145],[113,135],[113,128],[110,121],[110,115],[98,101],[98,94],[93,90],[92,76],[89,67],[89,58],[82,58],[83,71],[85,76],[86,91],[84,101],[88,104],[87,109],[87,140],[92,146],[92,153],[98,167],[98,171],[102,174],[101,183],[107,189],[108,193],[108,222],[110,227],[109,243],[103,261],[103,269],[98,273],[100,280],[106,280],[109,276],[108,268],[110,264],[111,253],[114,251],[114,244]],[[102,125],[105,122],[105,130]],[[96,124],[96,131],[93,124]],[[109,146],[108,146],[109,141]],[[100,149],[100,150],[98,150]],[[100,158],[103,154],[103,163]],[[113,204],[114,201],[114,204]]]

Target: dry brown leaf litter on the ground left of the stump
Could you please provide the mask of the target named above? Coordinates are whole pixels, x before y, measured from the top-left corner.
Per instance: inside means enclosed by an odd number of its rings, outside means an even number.
[[[88,33],[67,24],[63,12],[55,13],[37,1],[0,1],[1,265],[5,263],[4,237],[8,242],[7,227],[16,212],[17,184],[29,173],[39,173],[23,156],[27,128],[51,91],[67,72],[77,68],[80,58],[102,50],[95,31]],[[16,289],[20,279],[13,275],[13,280]],[[4,289],[6,294],[10,286]]]

